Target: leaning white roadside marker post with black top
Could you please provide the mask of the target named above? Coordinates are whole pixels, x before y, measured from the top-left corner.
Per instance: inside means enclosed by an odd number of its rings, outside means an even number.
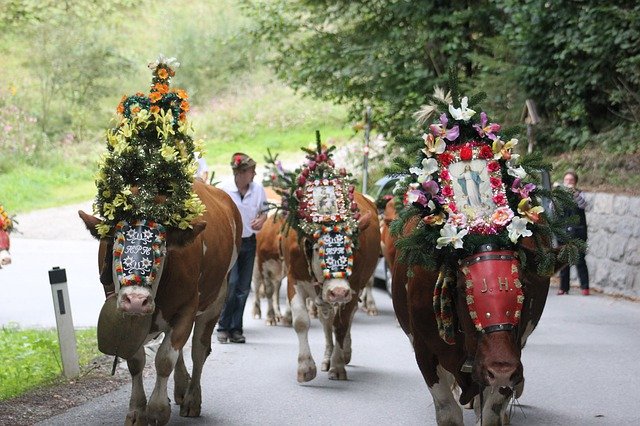
[[[68,379],[80,375],[78,365],[78,352],[76,349],[76,333],[71,317],[71,304],[67,291],[67,272],[54,266],[49,271],[51,283],[51,295],[53,296],[53,310],[56,314],[58,327],[58,342],[60,343],[60,355],[62,357],[62,373]]]

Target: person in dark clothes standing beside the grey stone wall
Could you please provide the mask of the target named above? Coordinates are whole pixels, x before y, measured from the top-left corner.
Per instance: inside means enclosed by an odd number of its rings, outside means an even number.
[[[564,174],[563,185],[573,194],[573,199],[576,202],[576,207],[573,209],[565,210],[563,218],[568,219],[571,216],[578,217],[578,223],[572,224],[567,227],[567,233],[570,237],[580,238],[582,241],[587,241],[587,217],[585,215],[585,207],[587,202],[585,201],[582,192],[578,190],[576,185],[578,184],[578,175],[574,171],[568,171]],[[580,280],[580,288],[584,296],[589,295],[589,270],[587,269],[587,262],[585,261],[585,253],[580,253],[578,263],[576,263],[576,269],[578,270],[578,278]],[[569,294],[569,278],[571,275],[571,266],[567,265],[560,271],[560,290],[558,295]]]

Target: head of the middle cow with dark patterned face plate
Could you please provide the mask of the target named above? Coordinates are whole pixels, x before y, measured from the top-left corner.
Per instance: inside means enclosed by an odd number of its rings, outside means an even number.
[[[371,222],[367,212],[357,221],[358,231],[366,229]],[[322,284],[322,300],[331,304],[349,303],[355,291],[348,278],[353,267],[353,241],[349,228],[338,225],[323,226],[313,236],[311,269]]]

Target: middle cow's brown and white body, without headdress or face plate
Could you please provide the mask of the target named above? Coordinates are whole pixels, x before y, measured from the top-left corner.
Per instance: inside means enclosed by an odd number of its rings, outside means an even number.
[[[351,360],[351,322],[358,296],[373,274],[380,251],[376,207],[359,193],[355,193],[355,201],[362,216],[358,223],[358,249],[354,253],[352,273],[348,280],[323,278],[318,247],[313,246],[311,239],[306,236],[299,239],[293,229],[289,230],[285,239],[287,296],[299,343],[298,382],[308,382],[317,373],[308,340],[310,319],[307,298],[315,300],[325,333],[321,369],[329,372],[330,379],[347,379],[345,365]]]

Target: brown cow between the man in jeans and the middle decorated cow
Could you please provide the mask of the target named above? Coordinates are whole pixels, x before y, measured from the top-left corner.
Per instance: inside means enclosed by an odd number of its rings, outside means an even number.
[[[270,216],[256,237],[256,263],[253,268],[253,318],[260,319],[260,299],[267,299],[267,325],[283,320],[280,311],[280,285],[285,277],[281,229],[284,218],[276,213]]]

